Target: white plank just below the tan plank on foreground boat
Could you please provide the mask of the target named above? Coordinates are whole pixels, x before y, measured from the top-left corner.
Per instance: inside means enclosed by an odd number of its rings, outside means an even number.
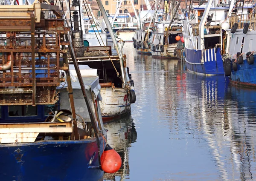
[[[31,132],[50,132],[50,133],[72,133],[73,128],[71,127],[52,127],[52,128],[1,128],[0,133],[31,133]]]

